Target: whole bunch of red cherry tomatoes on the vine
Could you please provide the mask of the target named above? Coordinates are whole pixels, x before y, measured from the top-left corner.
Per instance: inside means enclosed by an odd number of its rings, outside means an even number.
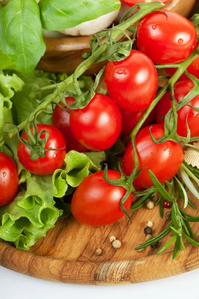
[[[137,1],[124,0],[124,2],[133,5]],[[64,109],[56,106],[52,126],[37,125],[38,132],[46,130],[49,133],[45,149],[60,150],[46,151],[44,158],[39,157],[33,161],[30,159],[30,150],[19,142],[18,158],[27,170],[37,175],[51,174],[63,165],[66,151],[105,150],[113,146],[119,137],[128,136],[157,93],[158,76],[154,64],[180,63],[187,59],[197,46],[197,32],[194,25],[183,16],[160,9],[141,19],[137,28],[136,45],[138,50],[131,50],[130,55],[124,60],[108,62],[104,77],[108,96],[96,93],[84,109],[70,110],[60,102]],[[188,71],[199,78],[199,58],[196,60]],[[170,72],[173,72],[173,69]],[[193,86],[193,82],[183,75],[175,84],[176,101],[184,98]],[[66,98],[69,105],[74,101],[73,98]],[[199,95],[189,104],[199,108]],[[136,135],[139,169],[144,167],[133,182],[137,189],[146,189],[153,185],[148,169],[161,183],[170,180],[180,169],[183,161],[182,147],[173,141],[155,144],[149,133],[151,124],[151,133],[155,139],[164,135],[162,117],[170,108],[170,92],[167,92]],[[190,106],[184,106],[178,111],[178,134],[187,136],[186,119],[191,137],[199,136],[199,113]],[[45,133],[40,137],[45,138]],[[28,140],[25,132],[22,138]],[[9,157],[8,159],[11,160]],[[8,162],[2,164],[0,161],[0,165],[6,165],[8,174]],[[130,175],[133,168],[134,155],[130,141],[122,157],[122,169],[126,175]],[[0,190],[3,190],[6,180],[3,176],[3,167],[1,169]],[[16,176],[15,185],[18,186],[16,167],[12,172],[10,174],[12,182]],[[119,177],[120,172],[108,170],[109,179]],[[0,205],[13,199],[17,192],[16,186],[13,187],[12,195],[9,189],[7,199],[7,195],[0,192]],[[103,179],[103,171],[94,173],[85,178],[75,190],[71,203],[72,213],[84,224],[113,223],[124,215],[120,209],[120,201],[125,192],[123,187],[108,184]],[[124,203],[127,210],[131,202],[132,193]]]

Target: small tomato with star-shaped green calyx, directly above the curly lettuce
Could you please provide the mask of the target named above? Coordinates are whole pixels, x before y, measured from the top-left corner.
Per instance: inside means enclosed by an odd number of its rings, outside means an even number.
[[[44,158],[39,157],[36,161],[33,161],[30,159],[30,150],[22,142],[19,142],[17,148],[19,162],[25,167],[25,169],[34,174],[52,174],[56,169],[62,167],[64,163],[64,159],[66,156],[66,142],[61,132],[59,132],[59,130],[57,130],[53,126],[39,124],[37,125],[37,129],[38,133],[44,130],[49,133],[49,138],[46,142],[45,149],[60,150],[48,150],[46,151],[46,156]],[[32,127],[30,128],[30,130],[32,133]],[[25,140],[28,140],[25,132],[22,133],[21,137]],[[45,133],[43,133],[40,138],[44,139]]]

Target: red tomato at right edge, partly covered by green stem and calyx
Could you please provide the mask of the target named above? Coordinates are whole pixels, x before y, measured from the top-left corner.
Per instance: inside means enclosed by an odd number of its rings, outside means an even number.
[[[194,83],[191,80],[179,81],[174,85],[174,96],[177,102],[183,99],[194,87]],[[199,95],[194,97],[189,105],[199,108]],[[157,105],[156,120],[158,124],[164,124],[164,119],[160,119],[165,116],[171,109],[170,92],[168,91],[160,100]],[[187,136],[186,119],[191,131],[191,137],[199,136],[199,112],[189,107],[188,105],[181,108],[178,112],[178,128],[177,133],[180,136]]]

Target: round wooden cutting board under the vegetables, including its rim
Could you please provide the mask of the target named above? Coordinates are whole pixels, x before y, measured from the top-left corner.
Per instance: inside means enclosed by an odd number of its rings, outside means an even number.
[[[189,198],[199,208],[199,200],[189,194]],[[165,209],[165,213],[169,209]],[[198,210],[187,208],[188,213],[199,215]],[[0,242],[0,265],[16,272],[55,282],[75,284],[126,284],[157,280],[199,268],[199,248],[186,245],[178,258],[172,260],[170,247],[161,255],[150,247],[142,253],[134,248],[145,241],[145,223],[154,223],[154,235],[169,225],[161,219],[159,207],[146,207],[130,213],[133,223],[127,217],[104,227],[90,227],[79,224],[73,216],[59,220],[54,229],[40,239],[30,251],[20,251],[6,242]],[[196,240],[199,239],[199,223],[193,224]],[[108,237],[114,235],[122,243],[114,249]],[[170,235],[160,241],[162,247]],[[186,244],[186,243],[185,243]],[[96,248],[103,253],[97,256]],[[160,248],[159,248],[160,249]]]

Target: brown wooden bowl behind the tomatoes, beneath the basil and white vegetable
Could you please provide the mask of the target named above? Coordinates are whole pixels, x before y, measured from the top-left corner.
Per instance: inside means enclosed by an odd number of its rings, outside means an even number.
[[[196,0],[170,0],[166,9],[189,17]],[[72,74],[83,61],[82,54],[90,51],[91,36],[50,38],[45,37],[46,52],[37,65],[37,69],[47,72]],[[106,61],[94,64],[87,75],[95,74],[106,64]]]

